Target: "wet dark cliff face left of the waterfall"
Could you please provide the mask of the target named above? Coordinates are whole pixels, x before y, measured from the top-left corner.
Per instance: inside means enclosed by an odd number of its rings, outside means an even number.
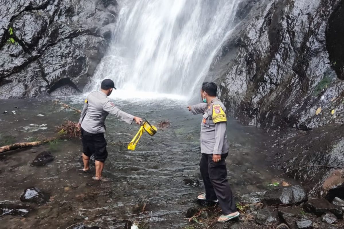
[[[0,0],[0,98],[82,91],[115,26],[116,0]]]

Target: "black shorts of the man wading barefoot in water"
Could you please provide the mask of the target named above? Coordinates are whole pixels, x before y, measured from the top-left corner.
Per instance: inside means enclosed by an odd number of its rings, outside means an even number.
[[[94,154],[96,161],[104,162],[107,158],[107,143],[104,138],[104,133],[91,134],[81,129],[81,137],[83,139],[83,153],[87,157],[91,157]]]

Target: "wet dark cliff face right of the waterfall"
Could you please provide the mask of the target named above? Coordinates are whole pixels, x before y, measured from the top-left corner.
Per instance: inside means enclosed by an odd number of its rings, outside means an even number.
[[[242,4],[238,18],[244,19],[210,72],[228,110],[270,131],[272,159],[285,170],[344,166],[344,1]],[[290,173],[314,194],[325,193],[332,174],[319,167]]]

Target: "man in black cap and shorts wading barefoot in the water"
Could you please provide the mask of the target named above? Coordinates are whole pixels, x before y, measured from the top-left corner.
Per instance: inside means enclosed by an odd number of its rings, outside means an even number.
[[[83,142],[83,171],[89,170],[89,158],[94,154],[96,165],[95,180],[101,180],[104,162],[107,158],[105,132],[105,118],[108,114],[116,115],[120,120],[131,124],[135,121],[141,124],[142,119],[125,113],[115,106],[108,98],[115,88],[114,81],[105,79],[101,82],[101,91],[90,93],[85,100],[78,127],[81,127]],[[116,88],[115,88],[116,89]]]

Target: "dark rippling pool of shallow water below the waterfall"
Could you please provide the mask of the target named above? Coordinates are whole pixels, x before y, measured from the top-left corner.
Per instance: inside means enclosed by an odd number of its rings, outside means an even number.
[[[62,99],[82,108],[84,97]],[[108,228],[123,224],[117,218],[142,220],[151,228],[182,228],[188,225],[184,219],[185,211],[196,205],[195,197],[203,191],[198,169],[201,116],[191,115],[183,101],[114,101],[122,110],[146,117],[153,125],[168,120],[171,126],[159,128],[153,137],[144,134],[137,149],[128,151],[127,144],[139,126],[130,126],[114,116],[108,116],[106,139],[109,157],[104,175],[110,181],[104,183],[91,179],[93,166],[90,174],[80,171],[79,139],[34,148],[37,152],[25,149],[3,154],[0,156],[0,201],[20,202],[20,195],[29,186],[39,187],[51,196],[47,204],[41,207],[33,205],[36,210],[27,218],[0,217],[5,228],[57,228],[56,225],[66,228],[77,222],[92,220],[100,220],[96,223]],[[55,126],[65,118],[72,121],[79,118],[74,111],[55,107],[52,101],[46,100],[3,100],[0,105],[9,112],[0,115],[2,133],[11,134],[15,142],[52,136]],[[12,110],[16,114],[11,114]],[[47,124],[47,129],[28,128],[30,124]],[[269,152],[264,146],[267,136],[233,119],[228,121],[227,135],[231,147],[226,160],[228,180],[235,195],[266,188],[266,183],[271,182],[277,173],[265,161]],[[44,150],[50,150],[55,160],[43,167],[31,167],[32,160]],[[197,181],[200,181],[199,185]],[[137,214],[144,204],[146,211]]]

